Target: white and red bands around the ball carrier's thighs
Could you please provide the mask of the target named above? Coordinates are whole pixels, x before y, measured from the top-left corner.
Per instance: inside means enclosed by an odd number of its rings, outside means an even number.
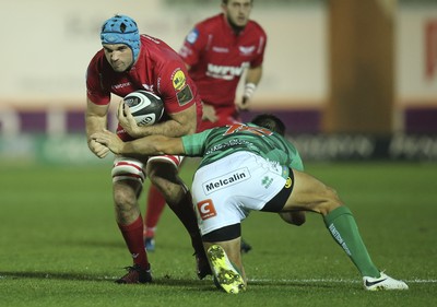
[[[184,156],[179,155],[157,155],[149,157],[147,163],[152,161],[164,161],[173,164],[176,168],[179,168],[182,160]],[[143,184],[145,179],[144,166],[145,164],[142,161],[117,155],[114,160],[111,172],[113,182],[120,180],[137,180],[140,184]]]

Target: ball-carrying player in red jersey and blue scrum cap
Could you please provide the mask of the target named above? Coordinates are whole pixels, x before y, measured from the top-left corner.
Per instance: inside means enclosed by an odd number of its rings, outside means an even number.
[[[116,15],[102,27],[103,49],[91,60],[86,72],[87,107],[85,115],[90,150],[105,157],[108,150],[90,137],[107,126],[111,94],[123,97],[137,90],[158,95],[167,119],[150,127],[130,127],[119,122],[118,137],[132,140],[151,134],[181,137],[194,133],[202,114],[201,101],[193,81],[187,75],[184,61],[163,40],[140,35],[129,16]],[[191,205],[191,194],[177,175],[180,157],[157,158],[116,156],[113,189],[116,221],[132,255],[133,265],[117,283],[152,281],[143,241],[143,220],[138,205],[145,174],[164,194],[166,202],[188,231],[196,251],[200,279],[211,273]],[[145,174],[144,174],[145,170]]]

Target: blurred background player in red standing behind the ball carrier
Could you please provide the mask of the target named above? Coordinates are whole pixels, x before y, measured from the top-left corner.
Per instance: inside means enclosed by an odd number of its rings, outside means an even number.
[[[249,20],[252,5],[252,0],[223,0],[223,12],[196,24],[179,51],[202,97],[201,131],[240,121],[239,110],[248,108],[261,80],[267,34]],[[244,95],[236,99],[245,72]],[[165,199],[151,186],[144,216],[149,250],[155,248],[155,229],[164,206]],[[241,251],[250,249],[241,243]]]

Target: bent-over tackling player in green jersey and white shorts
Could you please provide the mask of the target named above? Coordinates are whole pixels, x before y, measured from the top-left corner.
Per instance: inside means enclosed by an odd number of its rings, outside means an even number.
[[[120,116],[135,125],[129,111],[123,115],[119,109]],[[193,208],[215,283],[227,293],[247,286],[239,247],[240,222],[250,211],[277,212],[294,225],[305,223],[305,212],[319,213],[359,271],[365,290],[408,290],[404,282],[374,264],[352,212],[332,188],[304,173],[300,156],[284,132],[280,119],[260,115],[249,123],[181,138],[150,135],[122,142],[104,131],[92,139],[125,156],[202,156],[192,182]]]

